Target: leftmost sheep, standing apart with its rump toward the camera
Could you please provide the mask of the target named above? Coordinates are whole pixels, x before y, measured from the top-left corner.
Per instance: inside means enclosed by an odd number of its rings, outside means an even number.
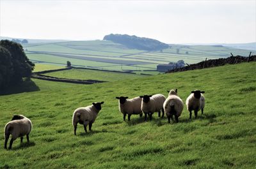
[[[32,129],[31,121],[24,115],[13,115],[12,121],[8,122],[4,127],[4,149],[7,149],[7,142],[12,135],[10,141],[9,149],[12,149],[12,143],[18,137],[20,137],[20,142],[23,140],[23,136],[27,136],[27,141],[29,142],[29,133]]]

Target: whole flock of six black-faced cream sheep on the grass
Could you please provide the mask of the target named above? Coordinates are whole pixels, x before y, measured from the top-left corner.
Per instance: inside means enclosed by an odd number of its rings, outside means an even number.
[[[120,96],[116,97],[119,103],[119,110],[124,115],[124,121],[126,115],[128,115],[128,121],[131,119],[132,114],[139,114],[142,117],[145,114],[145,121],[147,121],[147,116],[152,119],[152,114],[158,112],[158,116],[161,117],[161,111],[163,112],[162,117],[164,117],[164,112],[170,123],[170,119],[173,120],[173,115],[175,120],[179,122],[178,117],[182,113],[184,104],[182,99],[177,96],[177,89],[168,91],[168,98],[165,98],[163,94],[154,94],[138,96],[136,98],[128,99],[128,97]],[[186,106],[189,111],[189,119],[191,119],[192,111],[197,117],[199,110],[204,113],[205,98],[202,94],[204,91],[191,91],[191,94],[186,99]],[[104,101],[100,103],[92,103],[88,107],[80,107],[74,111],[72,117],[72,124],[74,126],[74,135],[76,135],[77,123],[83,124],[84,131],[87,132],[87,126],[89,125],[89,130],[92,130],[92,124],[95,121],[99,111],[101,110],[101,105]],[[29,142],[29,133],[32,129],[31,121],[24,115],[14,115],[12,121],[8,122],[4,127],[4,149],[7,149],[7,142],[12,135],[10,140],[9,149],[12,149],[12,143],[18,137],[20,137],[20,142],[23,140],[23,136],[26,135],[27,141]]]

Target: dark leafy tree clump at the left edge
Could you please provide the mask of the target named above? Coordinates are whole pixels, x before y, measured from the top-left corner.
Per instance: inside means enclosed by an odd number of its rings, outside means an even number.
[[[0,89],[19,84],[23,77],[31,77],[34,66],[19,43],[0,41]]]

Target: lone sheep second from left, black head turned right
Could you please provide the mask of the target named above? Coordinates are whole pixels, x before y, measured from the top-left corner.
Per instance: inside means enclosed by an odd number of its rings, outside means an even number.
[[[87,133],[87,125],[89,124],[89,130],[92,130],[92,124],[95,121],[98,113],[101,110],[101,105],[104,101],[100,103],[92,103],[88,107],[79,107],[74,111],[72,122],[74,126],[74,134],[76,135],[77,123],[84,125],[84,131]]]

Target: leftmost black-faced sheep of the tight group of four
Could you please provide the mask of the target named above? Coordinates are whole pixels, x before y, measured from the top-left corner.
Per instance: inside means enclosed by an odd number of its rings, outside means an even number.
[[[128,114],[128,121],[131,119],[132,114],[140,114],[140,117],[142,117],[142,111],[141,111],[141,98],[136,97],[132,99],[127,99],[128,97],[120,96],[116,97],[116,99],[119,99],[118,105],[119,110],[122,114],[124,114],[124,121],[125,116]]]

